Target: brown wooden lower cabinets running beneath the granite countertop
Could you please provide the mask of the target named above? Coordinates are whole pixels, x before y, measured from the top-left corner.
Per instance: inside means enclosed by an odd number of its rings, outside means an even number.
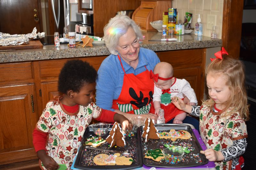
[[[175,77],[188,80],[201,104],[205,49],[161,51],[156,54],[160,61],[172,64]],[[106,57],[79,59],[98,70]],[[68,60],[73,59],[0,64],[0,169],[5,166],[3,164],[37,159],[32,144],[33,129],[46,103],[53,96],[60,95],[60,70]]]

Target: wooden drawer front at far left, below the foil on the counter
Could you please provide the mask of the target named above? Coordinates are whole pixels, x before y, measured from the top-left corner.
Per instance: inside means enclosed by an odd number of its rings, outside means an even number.
[[[9,63],[0,65],[0,82],[17,82],[33,79],[32,63]]]

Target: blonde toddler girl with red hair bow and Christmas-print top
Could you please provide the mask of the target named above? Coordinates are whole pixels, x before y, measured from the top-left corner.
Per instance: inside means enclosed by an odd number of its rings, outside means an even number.
[[[241,169],[241,156],[247,145],[247,95],[244,87],[244,66],[241,61],[223,58],[224,48],[215,53],[206,70],[209,100],[202,106],[185,105],[180,98],[172,98],[179,109],[200,118],[200,135],[208,149],[200,151],[216,169]]]

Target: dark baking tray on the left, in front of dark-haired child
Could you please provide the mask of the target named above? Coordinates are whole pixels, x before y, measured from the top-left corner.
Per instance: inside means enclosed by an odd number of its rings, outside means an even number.
[[[108,129],[108,134],[109,134],[110,130],[112,129],[112,126],[113,125],[110,125],[110,127]],[[108,137],[108,134],[105,136],[102,136],[102,138],[106,139]],[[96,136],[93,133],[92,127],[89,126],[84,132],[84,137],[83,137],[82,143],[81,143],[82,145],[80,146],[80,149],[77,153],[74,167],[78,168],[78,169],[88,169],[88,170],[102,170],[102,169],[126,170],[126,169],[134,169],[134,168],[142,167],[143,162],[142,162],[142,156],[141,156],[142,153],[141,153],[141,149],[140,149],[141,142],[140,142],[139,134],[140,133],[139,133],[139,128],[138,128],[136,135],[134,135],[133,137],[125,138],[126,146],[124,148],[115,147],[115,146],[112,148],[109,148],[110,144],[108,142],[105,142],[105,143],[101,144],[99,147],[97,147],[97,148],[108,149],[108,150],[113,150],[113,151],[120,151],[120,152],[125,152],[128,150],[128,152],[130,153],[130,155],[128,155],[128,157],[131,157],[133,159],[132,165],[99,166],[99,165],[95,165],[93,163],[94,156],[96,156],[100,153],[105,153],[108,155],[114,154],[114,153],[105,152],[105,151],[96,151],[96,150],[91,150],[91,149],[85,148],[85,146],[90,146],[90,145],[85,145],[87,138],[90,135]]]

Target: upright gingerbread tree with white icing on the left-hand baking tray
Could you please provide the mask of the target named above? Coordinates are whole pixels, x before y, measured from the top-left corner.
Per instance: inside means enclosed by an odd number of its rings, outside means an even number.
[[[121,131],[121,128],[117,122],[114,123],[112,129],[109,132],[108,137],[106,138],[106,141],[110,144],[110,148],[113,146],[125,146],[125,140],[124,140],[124,134]]]

